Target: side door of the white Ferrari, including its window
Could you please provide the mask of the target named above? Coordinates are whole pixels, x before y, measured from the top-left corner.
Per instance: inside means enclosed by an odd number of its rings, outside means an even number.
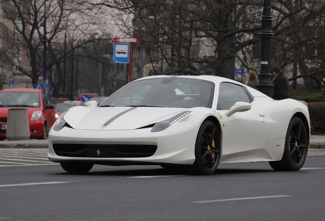
[[[225,116],[236,102],[247,102],[251,109]],[[217,112],[223,120],[224,157],[241,157],[258,153],[264,145],[267,122],[260,116],[258,100],[239,84],[222,82],[219,87]]]

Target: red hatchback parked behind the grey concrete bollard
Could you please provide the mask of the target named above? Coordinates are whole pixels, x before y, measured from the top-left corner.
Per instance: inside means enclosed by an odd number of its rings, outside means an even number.
[[[5,89],[0,91],[0,140],[6,139],[8,109],[28,110],[30,138],[46,139],[55,122],[54,104],[38,89]]]

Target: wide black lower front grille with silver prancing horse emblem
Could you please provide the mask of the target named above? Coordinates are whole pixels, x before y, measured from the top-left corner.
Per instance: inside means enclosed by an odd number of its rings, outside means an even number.
[[[82,158],[144,158],[151,157],[156,145],[123,144],[53,144],[54,152],[62,157]]]

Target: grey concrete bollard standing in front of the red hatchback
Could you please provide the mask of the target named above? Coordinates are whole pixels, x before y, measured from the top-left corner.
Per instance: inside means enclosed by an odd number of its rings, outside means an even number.
[[[28,140],[30,136],[27,109],[9,109],[6,131],[7,140]]]

